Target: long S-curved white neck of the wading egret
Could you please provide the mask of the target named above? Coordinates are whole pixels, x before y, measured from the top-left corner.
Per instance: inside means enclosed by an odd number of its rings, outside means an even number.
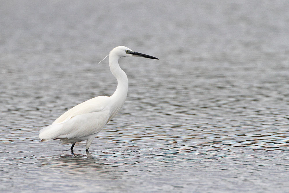
[[[115,108],[119,110],[123,106],[127,96],[128,79],[125,72],[121,69],[121,67],[119,67],[118,59],[118,56],[110,55],[108,64],[110,66],[110,71],[117,80],[116,90],[110,97],[115,102]]]

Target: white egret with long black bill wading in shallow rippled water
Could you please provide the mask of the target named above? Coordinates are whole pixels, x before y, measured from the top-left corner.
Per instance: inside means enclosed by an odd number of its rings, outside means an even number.
[[[60,139],[61,144],[72,143],[70,149],[73,151],[75,143],[86,140],[86,152],[88,152],[93,139],[118,113],[127,96],[128,79],[119,67],[118,59],[125,56],[140,56],[158,60],[158,58],[134,52],[124,46],[115,47],[108,56],[110,71],[117,80],[115,92],[110,97],[98,96],[69,109],[51,125],[39,131],[41,141]]]

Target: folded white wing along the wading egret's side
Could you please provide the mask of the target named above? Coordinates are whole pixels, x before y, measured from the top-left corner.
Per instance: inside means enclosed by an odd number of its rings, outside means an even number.
[[[41,141],[72,139],[98,133],[110,117],[107,100],[107,97],[99,96],[78,104],[58,117],[53,124],[41,129],[39,138]]]

